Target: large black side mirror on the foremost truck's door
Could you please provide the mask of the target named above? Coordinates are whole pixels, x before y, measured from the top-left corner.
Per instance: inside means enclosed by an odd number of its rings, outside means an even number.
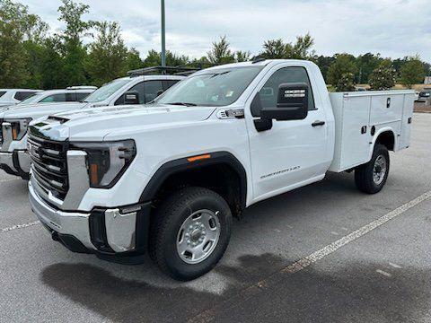
[[[309,87],[306,83],[283,83],[278,86],[277,108],[261,109],[263,119],[302,120],[308,115]]]

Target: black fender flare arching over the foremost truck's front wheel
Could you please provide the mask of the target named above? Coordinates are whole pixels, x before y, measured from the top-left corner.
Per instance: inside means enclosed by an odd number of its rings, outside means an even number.
[[[205,153],[204,153],[205,154]],[[240,178],[240,201],[242,208],[245,208],[247,199],[247,174],[242,166],[242,163],[232,154],[228,152],[213,152],[207,153],[210,158],[202,159],[196,162],[189,162],[188,158],[184,157],[171,162],[165,162],[158,170],[144,188],[140,197],[141,202],[148,202],[154,199],[159,188],[162,187],[164,181],[173,174],[180,173],[185,170],[197,170],[202,167],[224,164],[233,168]]]

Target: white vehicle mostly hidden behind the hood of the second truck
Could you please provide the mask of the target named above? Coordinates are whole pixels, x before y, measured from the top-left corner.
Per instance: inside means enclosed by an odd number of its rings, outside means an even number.
[[[22,100],[18,105],[35,103],[76,102],[84,100],[89,94],[97,90],[96,86],[70,86],[61,90],[47,90],[37,92]]]

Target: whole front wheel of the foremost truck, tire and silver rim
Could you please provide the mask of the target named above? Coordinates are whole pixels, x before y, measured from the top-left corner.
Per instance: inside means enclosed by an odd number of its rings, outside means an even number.
[[[154,214],[150,255],[167,275],[188,281],[210,271],[229,243],[232,214],[207,188],[183,188]]]

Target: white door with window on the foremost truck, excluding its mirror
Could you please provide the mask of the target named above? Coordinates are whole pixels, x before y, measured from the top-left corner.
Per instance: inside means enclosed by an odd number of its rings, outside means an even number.
[[[302,65],[282,66],[277,65],[267,74],[248,101],[253,202],[321,179],[327,164],[326,117],[319,96],[312,91],[314,83],[309,71]],[[306,118],[273,119],[272,127],[258,129],[259,110],[277,108],[278,87],[284,83],[306,83],[309,86]],[[258,98],[256,94],[259,94]]]

